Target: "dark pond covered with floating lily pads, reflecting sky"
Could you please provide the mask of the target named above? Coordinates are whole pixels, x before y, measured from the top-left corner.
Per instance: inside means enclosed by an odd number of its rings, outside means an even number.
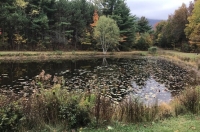
[[[61,84],[68,91],[101,92],[114,102],[127,96],[169,102],[188,83],[185,69],[144,57],[0,63],[0,92],[6,95],[28,97],[41,87]]]

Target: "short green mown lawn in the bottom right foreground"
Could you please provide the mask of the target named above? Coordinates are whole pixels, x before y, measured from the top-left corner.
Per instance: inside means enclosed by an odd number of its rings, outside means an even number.
[[[159,122],[115,124],[105,128],[83,128],[81,132],[200,132],[200,116],[179,116]]]

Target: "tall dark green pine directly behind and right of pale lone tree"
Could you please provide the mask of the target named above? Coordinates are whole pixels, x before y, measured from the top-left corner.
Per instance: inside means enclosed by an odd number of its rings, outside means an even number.
[[[131,50],[136,34],[136,17],[132,16],[125,0],[103,0],[103,14],[117,22],[121,40],[119,50]]]

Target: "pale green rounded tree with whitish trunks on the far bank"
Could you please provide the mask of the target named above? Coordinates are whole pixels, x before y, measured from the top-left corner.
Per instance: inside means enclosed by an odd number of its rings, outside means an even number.
[[[103,54],[106,54],[110,47],[119,43],[119,28],[113,19],[101,16],[94,28],[94,36],[101,45]]]

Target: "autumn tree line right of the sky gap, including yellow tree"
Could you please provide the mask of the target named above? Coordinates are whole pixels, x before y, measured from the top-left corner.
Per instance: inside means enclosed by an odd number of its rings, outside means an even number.
[[[200,44],[200,0],[181,7],[155,25],[154,43],[162,48],[196,52]]]

